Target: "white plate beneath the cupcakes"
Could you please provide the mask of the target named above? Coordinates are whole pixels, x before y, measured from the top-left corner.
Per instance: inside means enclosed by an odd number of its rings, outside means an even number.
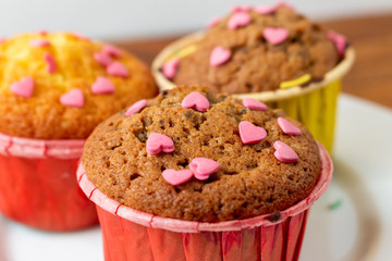
[[[390,260],[392,111],[343,95],[339,112],[334,178],[313,207],[301,260]],[[103,260],[98,227],[59,234],[0,222],[2,261]]]

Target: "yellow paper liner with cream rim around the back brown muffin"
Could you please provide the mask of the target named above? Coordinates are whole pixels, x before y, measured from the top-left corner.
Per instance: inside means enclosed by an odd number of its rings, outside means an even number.
[[[201,39],[204,33],[196,33],[181,38],[164,48],[152,62],[152,74],[160,89],[171,89],[176,85],[164,77],[162,64],[172,59],[189,54],[189,48]],[[184,51],[185,50],[185,51]],[[187,51],[189,50],[189,51]],[[355,60],[352,47],[346,49],[344,59],[322,80],[273,91],[233,95],[236,98],[254,98],[267,103],[271,109],[283,109],[285,113],[302,122],[331,152],[334,134],[336,100],[341,89],[341,78],[350,71]]]

